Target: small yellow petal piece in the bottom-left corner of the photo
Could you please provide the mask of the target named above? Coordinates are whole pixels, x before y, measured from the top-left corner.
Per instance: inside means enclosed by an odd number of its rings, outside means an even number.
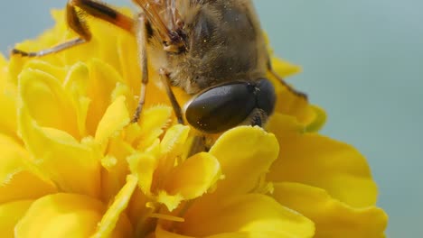
[[[18,200],[0,205],[2,237],[14,237],[14,225],[24,216],[33,200]]]

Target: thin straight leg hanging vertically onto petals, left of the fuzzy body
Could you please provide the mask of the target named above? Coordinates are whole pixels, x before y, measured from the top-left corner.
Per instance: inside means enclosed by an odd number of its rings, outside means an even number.
[[[139,120],[139,116],[141,111],[143,110],[143,106],[146,103],[146,86],[148,84],[148,59],[147,59],[147,51],[146,51],[146,43],[147,43],[147,20],[146,15],[141,13],[138,14],[137,20],[137,27],[136,27],[136,41],[138,41],[138,50],[139,50],[139,61],[141,66],[142,72],[142,79],[141,79],[141,89],[139,92],[139,100],[138,105],[136,105],[136,112],[132,116],[131,123],[137,123]]]

